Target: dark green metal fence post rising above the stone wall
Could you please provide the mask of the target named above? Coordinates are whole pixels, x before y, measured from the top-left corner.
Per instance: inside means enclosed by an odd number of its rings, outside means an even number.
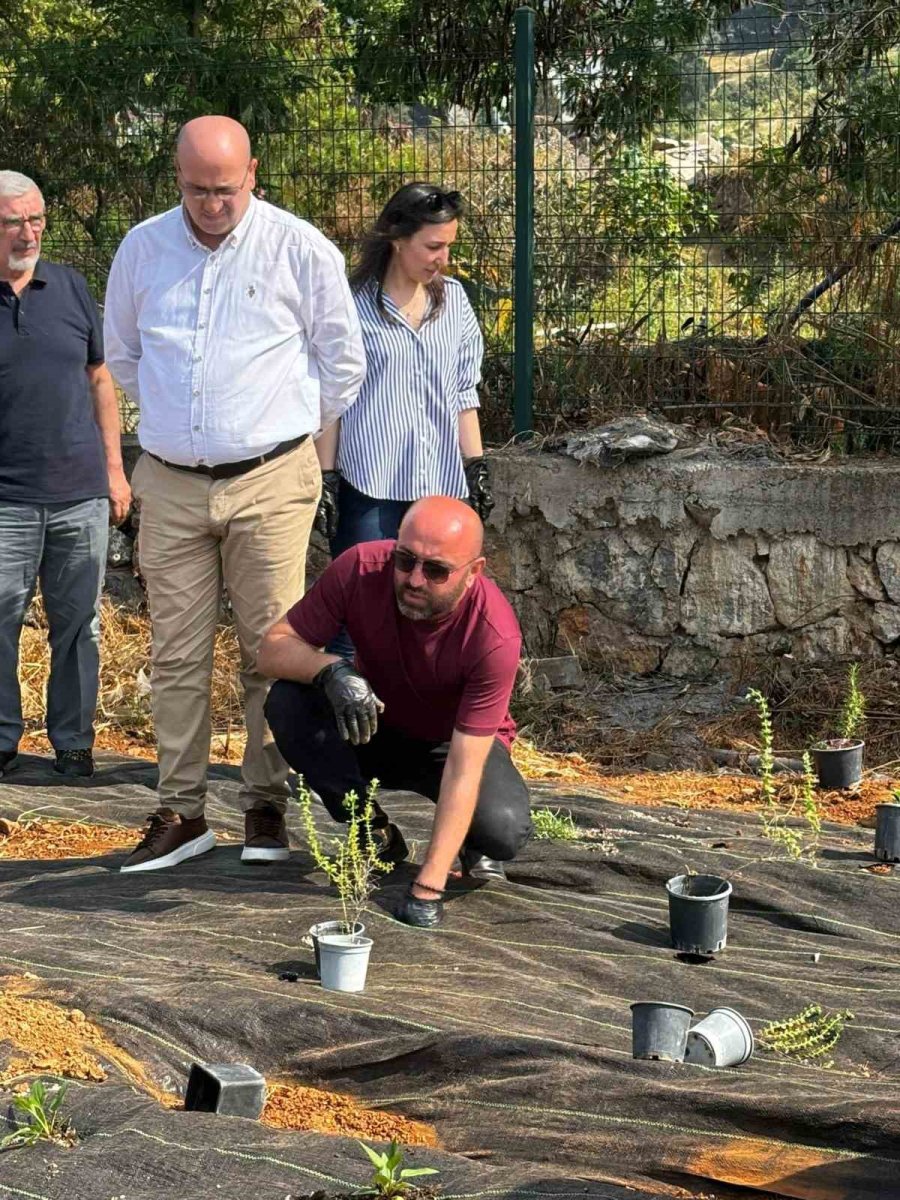
[[[516,433],[533,427],[534,389],[534,11],[515,14],[516,229],[514,258],[512,415]]]

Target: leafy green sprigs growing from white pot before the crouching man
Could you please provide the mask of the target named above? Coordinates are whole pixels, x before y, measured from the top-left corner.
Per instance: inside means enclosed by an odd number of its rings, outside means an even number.
[[[346,832],[343,836],[332,839],[330,854],[323,848],[316,829],[312,815],[312,793],[302,781],[298,792],[300,820],[306,833],[310,853],[319,870],[324,871],[329,882],[337,888],[343,926],[348,934],[352,932],[365,912],[368,898],[377,886],[378,874],[391,870],[390,864],[383,863],[378,857],[378,847],[372,835],[377,791],[378,780],[373,779],[368,786],[362,809],[359,806],[359,797],[355,792],[348,792],[344,796],[343,805],[348,812]]]

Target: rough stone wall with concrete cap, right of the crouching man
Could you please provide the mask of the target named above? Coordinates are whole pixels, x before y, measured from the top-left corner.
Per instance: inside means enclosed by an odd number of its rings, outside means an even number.
[[[718,450],[600,467],[492,456],[491,569],[530,655],[698,676],[900,644],[900,463]]]

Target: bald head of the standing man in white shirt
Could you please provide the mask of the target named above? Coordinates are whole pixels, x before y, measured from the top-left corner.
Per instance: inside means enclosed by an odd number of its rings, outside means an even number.
[[[178,136],[175,167],[193,230],[215,250],[244,218],[257,185],[247,131],[230,116],[197,116]]]

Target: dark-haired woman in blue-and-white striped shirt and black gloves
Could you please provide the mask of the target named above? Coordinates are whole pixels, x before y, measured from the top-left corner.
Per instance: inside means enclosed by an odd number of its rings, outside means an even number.
[[[323,472],[319,528],[332,557],[361,541],[396,538],[422,496],[493,508],[478,420],[484,342],[462,284],[442,274],[462,199],[406,184],[362,241],[350,275],[366,379],[356,402],[319,438],[336,448]],[[348,643],[349,644],[349,643]]]

